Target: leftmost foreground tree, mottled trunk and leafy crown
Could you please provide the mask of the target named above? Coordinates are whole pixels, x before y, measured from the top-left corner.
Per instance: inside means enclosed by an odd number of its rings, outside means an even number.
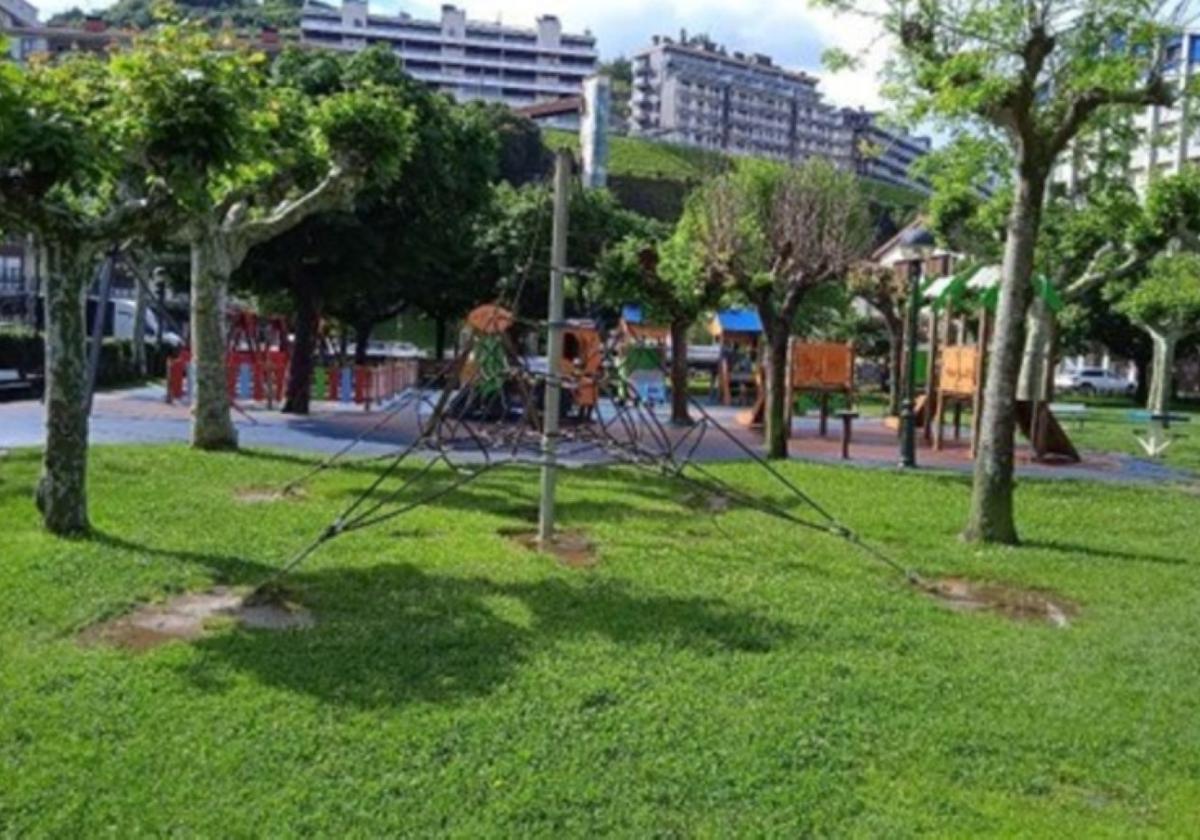
[[[137,163],[113,131],[120,104],[94,56],[0,64],[0,228],[34,234],[44,254],[46,450],[37,505],[46,528],[85,533],[88,372],[84,301],[100,254],[156,218]]]

